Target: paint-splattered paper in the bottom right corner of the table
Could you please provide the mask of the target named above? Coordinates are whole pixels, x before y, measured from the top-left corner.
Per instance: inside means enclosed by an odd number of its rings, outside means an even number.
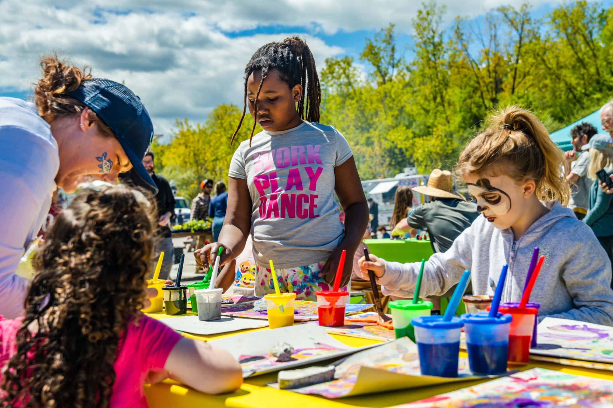
[[[451,393],[403,404],[406,408],[554,408],[613,406],[613,381],[533,368]]]

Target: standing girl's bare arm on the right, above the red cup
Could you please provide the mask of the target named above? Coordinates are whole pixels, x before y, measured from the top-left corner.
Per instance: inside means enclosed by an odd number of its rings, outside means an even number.
[[[338,248],[332,252],[321,271],[327,283],[334,281],[338,262],[343,250],[347,251],[346,259],[353,259],[357,246],[360,245],[364,231],[368,226],[368,204],[362,190],[360,176],[357,174],[356,161],[353,157],[348,158],[343,164],[334,168],[336,179],[334,191],[337,193],[343,211],[345,211],[345,237]],[[343,280],[341,286],[345,286],[351,278],[353,265],[345,261]]]

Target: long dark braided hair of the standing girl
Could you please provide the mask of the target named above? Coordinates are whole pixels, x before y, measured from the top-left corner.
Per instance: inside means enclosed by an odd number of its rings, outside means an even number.
[[[262,80],[257,87],[256,102],[253,106],[253,128],[251,128],[251,135],[249,136],[249,147],[251,147],[251,139],[253,139],[253,132],[257,124],[257,98],[260,96],[264,78],[268,75],[268,71],[272,69],[278,70],[281,80],[285,81],[290,88],[293,88],[296,84],[302,85],[303,91],[297,106],[300,119],[306,119],[309,122],[319,122],[321,86],[319,86],[315,59],[307,43],[300,39],[300,37],[288,37],[282,43],[271,42],[262,45],[253,54],[245,67],[245,95],[243,95],[245,105],[243,106],[243,114],[240,117],[240,122],[238,122],[234,135],[232,135],[230,144],[234,142],[234,138],[243,124],[243,119],[245,119],[245,112],[247,110],[247,79],[251,73],[261,71]]]

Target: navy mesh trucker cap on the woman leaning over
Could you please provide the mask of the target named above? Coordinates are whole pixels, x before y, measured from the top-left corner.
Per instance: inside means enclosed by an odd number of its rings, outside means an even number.
[[[118,139],[140,179],[158,192],[143,166],[143,157],[153,139],[153,124],[147,109],[128,87],[115,81],[93,78],[67,92],[94,111]]]

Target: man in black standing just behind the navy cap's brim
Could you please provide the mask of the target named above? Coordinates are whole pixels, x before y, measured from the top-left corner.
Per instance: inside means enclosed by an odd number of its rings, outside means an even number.
[[[175,197],[172,194],[172,189],[168,180],[164,177],[155,174],[154,154],[148,150],[143,157],[143,166],[147,169],[149,176],[158,186],[158,194],[155,199],[158,202],[158,231],[156,232],[156,245],[154,264],[158,262],[158,257],[161,252],[164,252],[164,260],[159,271],[159,279],[168,279],[170,269],[174,262],[174,246],[172,245],[172,231],[170,231],[170,220],[175,216]],[[149,279],[153,277],[154,268],[151,268]]]

